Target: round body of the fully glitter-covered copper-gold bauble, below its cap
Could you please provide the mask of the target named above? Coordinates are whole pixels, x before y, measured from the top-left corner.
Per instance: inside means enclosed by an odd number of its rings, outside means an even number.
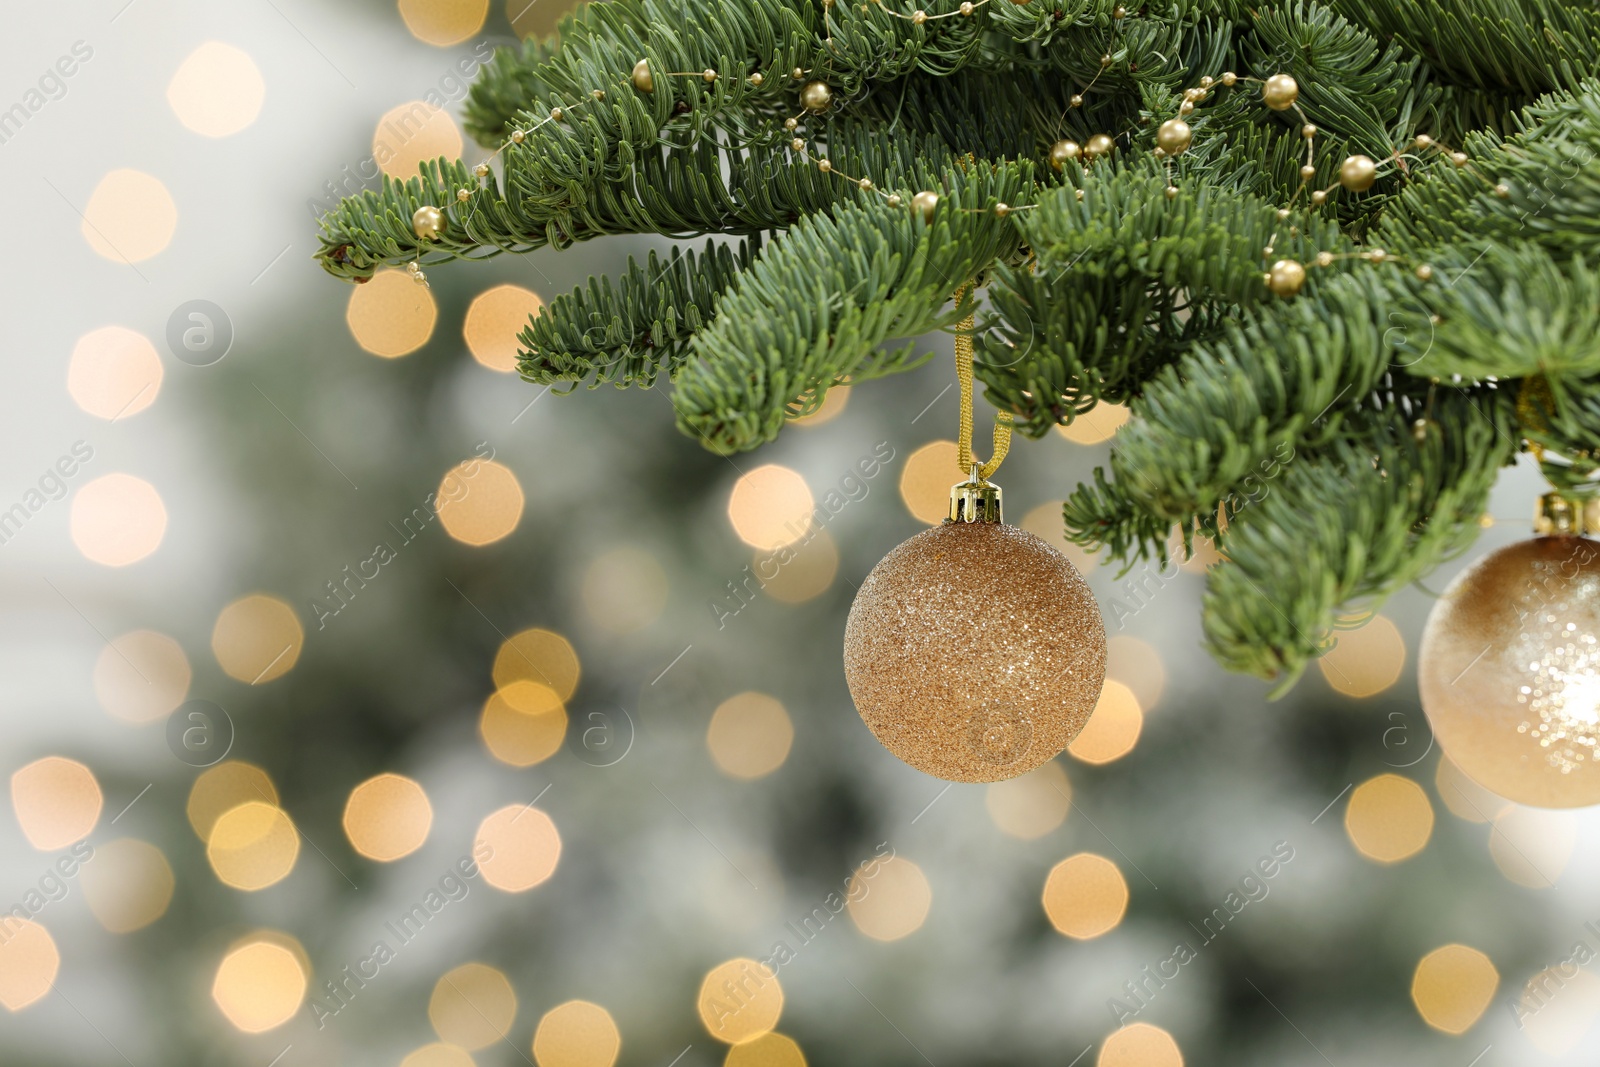
[[[845,680],[883,747],[952,782],[1026,774],[1083,729],[1106,624],[1067,557],[1005,523],[944,523],[867,574]]]

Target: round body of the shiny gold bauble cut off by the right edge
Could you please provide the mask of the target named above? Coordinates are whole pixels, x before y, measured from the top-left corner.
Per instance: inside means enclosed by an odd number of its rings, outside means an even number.
[[[1478,560],[1434,605],[1418,656],[1445,755],[1534,808],[1600,803],[1600,541],[1534,537]]]

